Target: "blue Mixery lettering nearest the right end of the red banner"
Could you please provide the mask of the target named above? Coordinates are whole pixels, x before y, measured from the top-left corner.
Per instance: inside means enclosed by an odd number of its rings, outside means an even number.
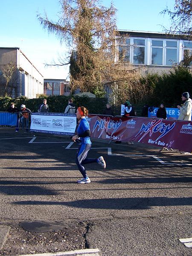
[[[137,137],[138,135],[142,135],[142,137],[140,138],[140,140],[138,140],[138,142],[140,142],[147,134],[151,137],[153,133],[159,132],[160,136],[154,141],[156,142],[157,140],[159,140],[160,138],[168,134],[170,131],[172,131],[172,129],[175,127],[176,122],[174,122],[172,125],[170,124],[166,125],[165,123],[162,122],[162,120],[163,119],[159,119],[159,120],[154,119],[153,121],[148,122],[147,125],[142,124],[140,131],[135,136]]]

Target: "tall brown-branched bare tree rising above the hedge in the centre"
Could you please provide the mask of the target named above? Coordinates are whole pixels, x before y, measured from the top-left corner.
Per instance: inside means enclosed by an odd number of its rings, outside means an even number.
[[[123,87],[122,81],[135,79],[137,72],[133,67],[123,67],[121,59],[115,61],[118,32],[113,4],[106,8],[99,5],[99,0],[61,0],[60,3],[62,11],[57,23],[48,17],[38,16],[38,19],[44,29],[55,33],[70,49],[70,59],[61,60],[60,65],[70,64],[72,89],[99,91],[102,96],[104,84],[108,83],[118,93],[116,84],[121,83]]]

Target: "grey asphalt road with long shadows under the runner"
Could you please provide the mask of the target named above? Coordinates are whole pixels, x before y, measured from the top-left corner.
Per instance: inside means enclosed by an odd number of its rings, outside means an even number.
[[[1,131],[1,224],[74,224],[84,239],[74,241],[75,248],[99,248],[103,256],[191,256],[192,248],[178,240],[192,237],[191,155],[138,143],[92,142],[89,157],[102,155],[107,167],[87,165],[91,183],[78,184],[78,145],[69,138]],[[12,250],[10,239],[4,249]],[[46,243],[39,248],[36,252],[48,251]],[[19,253],[30,252],[17,247],[12,255]]]

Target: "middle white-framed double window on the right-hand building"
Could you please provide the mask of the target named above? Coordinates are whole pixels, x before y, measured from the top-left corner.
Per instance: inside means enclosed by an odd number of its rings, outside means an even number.
[[[177,62],[177,41],[151,40],[151,64],[172,66]]]

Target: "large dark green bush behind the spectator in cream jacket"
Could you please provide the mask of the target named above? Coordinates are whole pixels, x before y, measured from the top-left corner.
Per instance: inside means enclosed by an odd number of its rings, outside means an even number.
[[[151,88],[151,93],[143,99],[143,104],[159,106],[163,103],[166,107],[176,108],[181,103],[181,94],[189,92],[192,96],[192,74],[189,68],[178,65],[169,73],[148,74],[140,82]]]

